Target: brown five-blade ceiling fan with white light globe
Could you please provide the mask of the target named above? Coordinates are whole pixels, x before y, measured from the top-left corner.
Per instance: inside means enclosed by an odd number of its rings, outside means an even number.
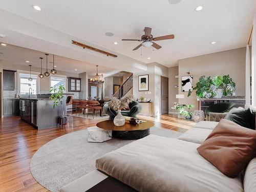
[[[173,39],[174,35],[165,35],[165,36],[160,36],[160,37],[153,37],[151,34],[152,29],[150,27],[145,27],[144,32],[145,34],[141,36],[141,39],[122,39],[122,40],[134,40],[134,41],[143,41],[140,45],[138,45],[136,48],[133,49],[133,51],[139,49],[141,46],[143,47],[154,47],[156,49],[160,49],[161,46],[156,44],[155,42],[152,41],[157,41],[157,40],[166,40],[166,39]]]

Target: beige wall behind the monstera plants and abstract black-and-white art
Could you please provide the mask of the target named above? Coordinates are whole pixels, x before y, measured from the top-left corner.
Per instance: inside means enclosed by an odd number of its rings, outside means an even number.
[[[229,74],[236,82],[236,95],[245,95],[245,54],[246,48],[233,49],[191,57],[179,60],[179,94],[185,94],[184,99],[179,99],[182,104],[194,104],[194,110],[198,109],[198,101],[195,91],[190,97],[187,92],[181,92],[181,76],[193,75],[194,87],[202,75],[217,76]]]

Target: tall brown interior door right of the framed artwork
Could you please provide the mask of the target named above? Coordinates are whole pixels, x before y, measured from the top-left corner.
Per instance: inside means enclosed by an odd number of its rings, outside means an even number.
[[[161,76],[161,115],[168,113],[168,78]]]

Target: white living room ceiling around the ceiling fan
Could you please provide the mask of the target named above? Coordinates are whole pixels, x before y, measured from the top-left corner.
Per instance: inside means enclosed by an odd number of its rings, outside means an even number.
[[[198,5],[204,9],[195,11]],[[170,67],[181,58],[244,47],[256,1],[182,0],[170,5],[168,0],[0,0],[0,8],[141,62]],[[174,34],[175,39],[158,41],[162,49],[154,52],[142,48],[141,56],[140,49],[132,51],[139,42],[121,39],[140,38],[144,27],[151,27],[154,36]],[[114,36],[107,37],[105,32]]]

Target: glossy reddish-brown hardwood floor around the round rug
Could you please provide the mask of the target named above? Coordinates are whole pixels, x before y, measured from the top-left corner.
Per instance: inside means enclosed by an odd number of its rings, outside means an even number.
[[[184,133],[195,123],[162,115],[139,116],[155,126]],[[101,120],[74,117],[73,126],[38,131],[19,117],[0,119],[0,191],[48,191],[30,173],[30,160],[42,145],[56,137],[95,126]]]

